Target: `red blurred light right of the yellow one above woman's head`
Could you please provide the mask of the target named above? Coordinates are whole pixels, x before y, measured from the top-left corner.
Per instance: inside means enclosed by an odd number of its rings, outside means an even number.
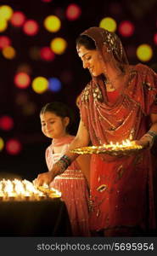
[[[123,37],[131,37],[135,30],[134,25],[129,20],[121,21],[119,25],[119,32]]]

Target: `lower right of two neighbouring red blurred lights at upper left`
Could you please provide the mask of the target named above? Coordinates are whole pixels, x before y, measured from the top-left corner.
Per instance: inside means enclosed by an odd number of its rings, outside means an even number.
[[[39,30],[39,26],[38,26],[36,20],[27,20],[27,21],[25,21],[23,30],[24,30],[25,34],[27,34],[28,36],[35,36]]]

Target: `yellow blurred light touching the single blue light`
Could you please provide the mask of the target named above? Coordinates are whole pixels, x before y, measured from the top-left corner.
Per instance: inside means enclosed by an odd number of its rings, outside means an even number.
[[[48,90],[48,79],[45,79],[43,77],[37,77],[36,79],[34,79],[32,81],[32,89],[36,92],[36,93],[43,93],[46,90]]]

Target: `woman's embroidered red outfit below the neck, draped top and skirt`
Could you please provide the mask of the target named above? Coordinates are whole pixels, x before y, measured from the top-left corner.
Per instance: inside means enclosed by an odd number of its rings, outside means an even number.
[[[83,34],[93,38],[101,52],[102,29],[97,29]],[[121,85],[114,100],[107,94],[101,76],[93,78],[81,93],[81,120],[93,145],[140,139],[149,130],[149,114],[157,113],[157,75],[142,64],[128,66],[127,72],[128,83]],[[91,230],[119,227],[154,229],[149,149],[120,158],[93,154],[90,173]]]

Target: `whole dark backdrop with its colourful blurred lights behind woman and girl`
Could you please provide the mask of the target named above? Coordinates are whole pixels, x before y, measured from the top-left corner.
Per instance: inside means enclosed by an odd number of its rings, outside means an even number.
[[[116,32],[132,64],[157,71],[157,0],[0,0],[0,176],[33,179],[46,172],[50,141],[40,109],[68,103],[90,76],[76,55],[76,37],[90,26]]]

